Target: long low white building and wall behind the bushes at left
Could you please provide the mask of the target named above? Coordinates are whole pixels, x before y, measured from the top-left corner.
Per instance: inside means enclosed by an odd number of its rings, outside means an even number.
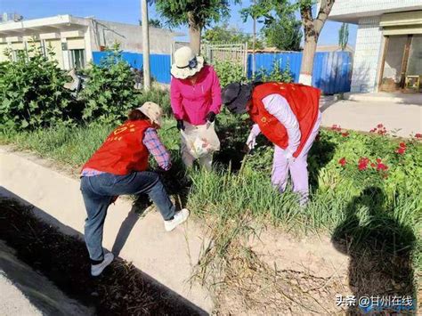
[[[180,34],[150,28],[150,53],[171,53],[174,36]],[[12,49],[12,56],[16,58],[20,50],[28,50],[29,45],[35,43],[43,52],[46,47],[53,47],[62,69],[84,68],[93,59],[93,52],[102,51],[115,42],[126,52],[142,53],[142,27],[71,15],[36,20],[3,19],[0,23],[0,61],[7,59],[4,49]]]

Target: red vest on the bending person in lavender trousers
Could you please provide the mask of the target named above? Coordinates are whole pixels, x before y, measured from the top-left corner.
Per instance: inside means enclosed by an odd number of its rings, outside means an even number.
[[[299,123],[300,144],[293,154],[293,157],[297,157],[304,148],[318,117],[321,91],[308,85],[284,83],[266,83],[254,88],[249,115],[268,140],[285,150],[288,147],[286,127],[264,108],[263,103],[267,95],[274,93],[280,94],[288,101]]]

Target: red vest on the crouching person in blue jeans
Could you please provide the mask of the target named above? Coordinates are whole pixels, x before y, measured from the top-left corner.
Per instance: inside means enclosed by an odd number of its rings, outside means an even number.
[[[151,125],[146,120],[126,121],[118,126],[82,169],[93,168],[120,175],[146,170],[150,153],[142,138],[149,127]]]

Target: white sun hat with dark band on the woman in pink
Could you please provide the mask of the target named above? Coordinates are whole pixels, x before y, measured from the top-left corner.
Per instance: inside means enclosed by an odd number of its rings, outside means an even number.
[[[186,79],[204,67],[204,57],[197,56],[191,47],[183,46],[174,52],[174,62],[170,70],[173,77]]]

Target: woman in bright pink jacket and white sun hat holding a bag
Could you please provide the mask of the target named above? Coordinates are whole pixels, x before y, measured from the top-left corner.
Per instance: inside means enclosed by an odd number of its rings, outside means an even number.
[[[191,167],[195,157],[184,136],[204,133],[201,139],[211,137],[218,142],[214,121],[222,106],[220,82],[215,70],[189,47],[179,48],[174,53],[171,74],[171,105],[177,128],[182,133],[182,159],[186,166]],[[207,170],[211,169],[212,162],[212,152],[199,157],[199,165]]]

